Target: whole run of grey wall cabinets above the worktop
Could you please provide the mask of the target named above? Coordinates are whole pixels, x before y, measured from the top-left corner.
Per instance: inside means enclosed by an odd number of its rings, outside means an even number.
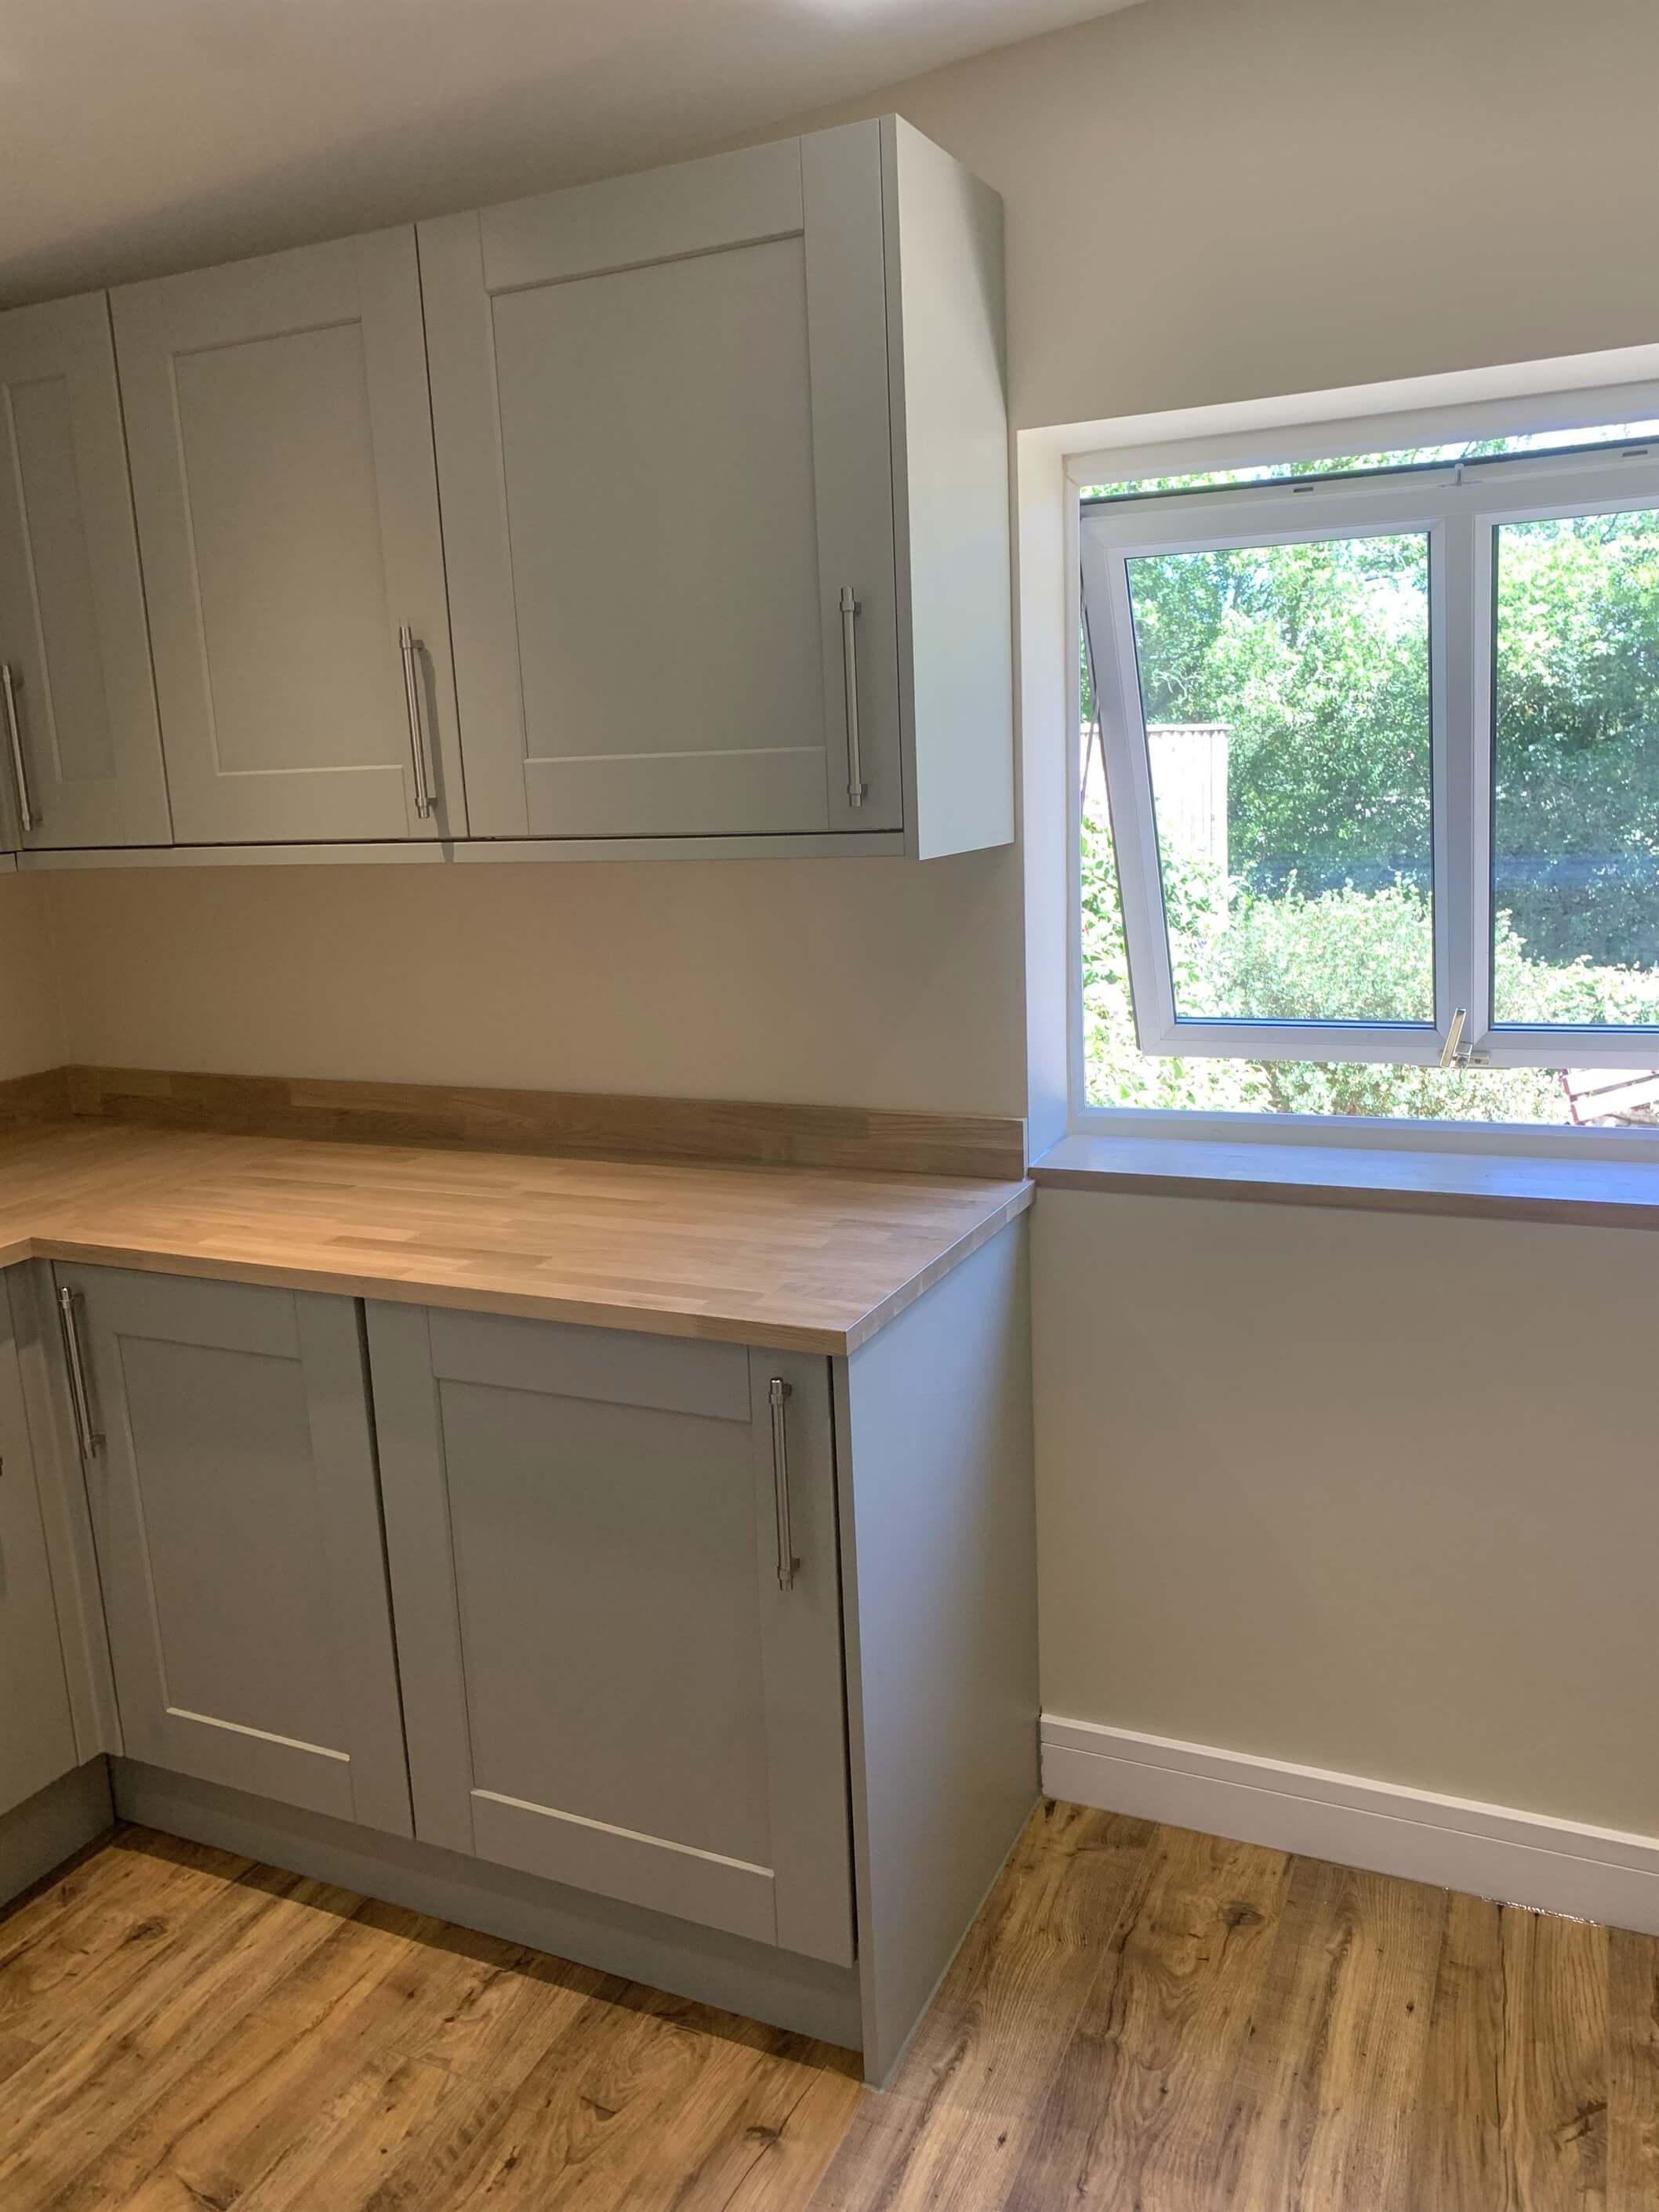
[[[1002,215],[898,117],[20,310],[0,383],[31,867],[1013,836]]]

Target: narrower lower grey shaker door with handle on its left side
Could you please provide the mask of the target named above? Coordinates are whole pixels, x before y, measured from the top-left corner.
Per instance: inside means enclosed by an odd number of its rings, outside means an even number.
[[[411,1832],[352,1298],[58,1267],[133,1759]]]

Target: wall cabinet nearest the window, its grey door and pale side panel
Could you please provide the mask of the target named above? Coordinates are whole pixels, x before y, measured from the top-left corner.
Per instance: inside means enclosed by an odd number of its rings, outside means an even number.
[[[995,195],[889,117],[420,265],[473,836],[1013,834]]]

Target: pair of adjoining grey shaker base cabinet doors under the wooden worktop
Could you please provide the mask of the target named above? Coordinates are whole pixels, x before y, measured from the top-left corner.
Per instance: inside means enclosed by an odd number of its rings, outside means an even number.
[[[128,1759],[852,1962],[827,1360],[55,1281]]]

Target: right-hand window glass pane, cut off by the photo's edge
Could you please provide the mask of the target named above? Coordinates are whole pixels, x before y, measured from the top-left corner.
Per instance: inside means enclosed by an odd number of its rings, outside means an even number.
[[[1493,1020],[1655,1024],[1659,511],[1493,553]]]

